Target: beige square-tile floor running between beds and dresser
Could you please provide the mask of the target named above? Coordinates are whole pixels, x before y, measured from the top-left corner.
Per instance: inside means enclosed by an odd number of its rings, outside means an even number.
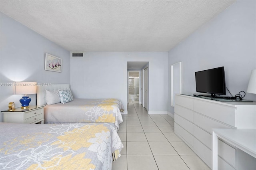
[[[210,170],[174,133],[169,115],[148,115],[137,101],[129,101],[118,134],[124,144],[112,170]]]

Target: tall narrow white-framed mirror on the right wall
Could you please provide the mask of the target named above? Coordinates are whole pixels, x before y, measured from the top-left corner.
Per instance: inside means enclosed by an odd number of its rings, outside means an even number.
[[[171,66],[171,105],[175,106],[175,94],[182,93],[182,62],[175,63]]]

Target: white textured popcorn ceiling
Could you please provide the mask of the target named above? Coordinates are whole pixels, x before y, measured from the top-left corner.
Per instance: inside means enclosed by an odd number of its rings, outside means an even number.
[[[69,51],[169,51],[235,0],[1,0]]]

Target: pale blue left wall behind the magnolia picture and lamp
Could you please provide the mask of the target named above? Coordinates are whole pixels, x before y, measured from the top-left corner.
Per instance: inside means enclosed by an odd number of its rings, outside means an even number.
[[[70,52],[37,34],[12,18],[0,13],[0,110],[13,101],[20,107],[22,95],[14,95],[14,87],[5,83],[36,81],[37,83],[70,83]],[[62,73],[45,71],[45,53],[62,58]],[[36,95],[29,95],[30,105],[36,105]],[[3,121],[2,114],[0,121]]]

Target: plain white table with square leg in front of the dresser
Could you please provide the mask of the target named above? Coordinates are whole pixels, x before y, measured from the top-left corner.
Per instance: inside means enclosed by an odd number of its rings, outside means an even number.
[[[218,138],[256,158],[256,129],[213,128],[212,170],[218,169]]]

